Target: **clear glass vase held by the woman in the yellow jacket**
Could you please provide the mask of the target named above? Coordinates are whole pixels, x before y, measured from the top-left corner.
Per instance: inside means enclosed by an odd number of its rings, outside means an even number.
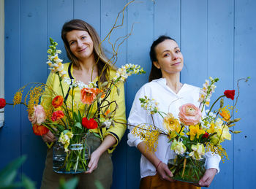
[[[53,145],[53,171],[63,174],[78,174],[88,170],[90,147],[87,134],[74,134],[67,151],[61,142]]]

